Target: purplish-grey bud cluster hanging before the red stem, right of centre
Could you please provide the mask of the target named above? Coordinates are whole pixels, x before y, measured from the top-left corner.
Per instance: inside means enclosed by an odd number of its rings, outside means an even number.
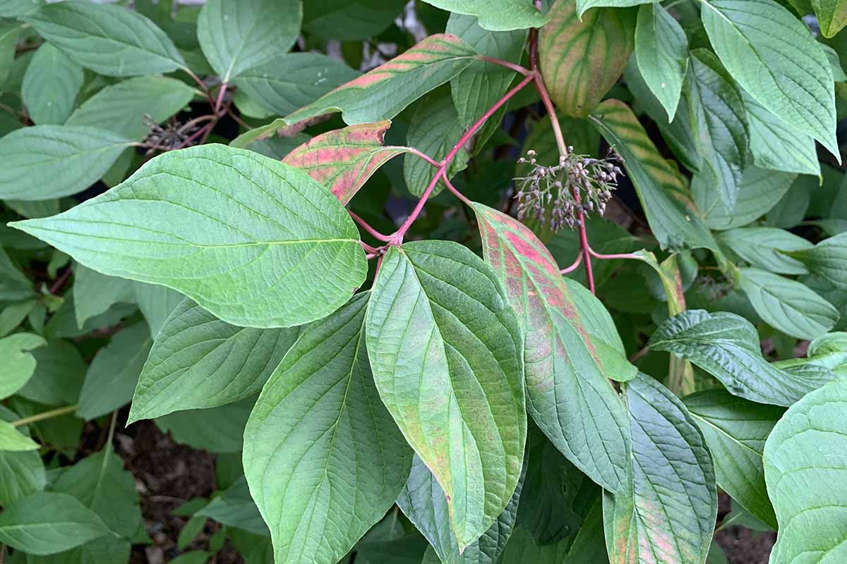
[[[623,164],[623,157],[612,149],[605,158],[595,159],[575,155],[573,147],[567,147],[567,156],[559,156],[558,164],[552,167],[539,164],[535,157],[535,151],[530,150],[518,159],[531,167],[527,176],[515,178],[518,219],[534,217],[549,221],[554,231],[579,226],[580,216],[587,217],[593,212],[602,216],[606,204],[612,200],[612,190],[617,188],[617,177],[623,174],[618,166]]]

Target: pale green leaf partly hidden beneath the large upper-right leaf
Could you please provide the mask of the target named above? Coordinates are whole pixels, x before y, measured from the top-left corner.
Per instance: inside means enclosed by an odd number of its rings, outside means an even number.
[[[750,153],[757,167],[821,176],[815,140],[783,122],[746,92]]]

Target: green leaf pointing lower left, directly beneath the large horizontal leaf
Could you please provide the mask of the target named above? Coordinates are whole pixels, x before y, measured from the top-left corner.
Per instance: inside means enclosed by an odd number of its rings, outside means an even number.
[[[233,326],[184,299],[156,336],[128,423],[256,394],[297,334],[297,329]]]

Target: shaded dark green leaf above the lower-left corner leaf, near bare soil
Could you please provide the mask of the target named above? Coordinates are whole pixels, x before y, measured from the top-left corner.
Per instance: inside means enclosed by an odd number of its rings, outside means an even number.
[[[131,539],[141,525],[136,480],[109,444],[64,470],[53,490],[80,500],[126,539]]]

